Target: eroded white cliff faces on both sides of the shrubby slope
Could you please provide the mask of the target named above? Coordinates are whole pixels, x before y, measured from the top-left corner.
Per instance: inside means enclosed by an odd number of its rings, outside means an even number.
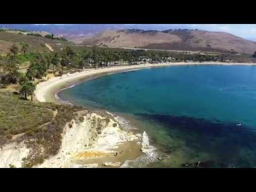
[[[90,159],[115,156],[116,148],[126,141],[140,141],[140,137],[122,130],[114,119],[95,113],[78,114],[67,123],[62,133],[61,147],[57,155],[42,159],[33,167],[98,167],[86,163]],[[42,146],[26,148],[26,140],[10,143],[0,150],[0,167],[26,167],[31,158],[38,158],[45,150]]]

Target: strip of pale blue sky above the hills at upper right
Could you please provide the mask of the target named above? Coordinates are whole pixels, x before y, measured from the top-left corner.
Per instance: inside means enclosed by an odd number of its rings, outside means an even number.
[[[41,24],[37,24],[41,25]],[[62,25],[62,24],[56,24]],[[67,24],[66,24],[67,25]],[[134,25],[134,24],[125,24]],[[138,24],[136,24],[138,25]],[[140,24],[139,24],[140,25]],[[234,34],[236,36],[256,41],[256,24],[149,24],[149,26],[156,26],[157,28],[180,28],[180,29],[201,29],[208,31],[222,31]],[[152,29],[154,30],[154,28]]]

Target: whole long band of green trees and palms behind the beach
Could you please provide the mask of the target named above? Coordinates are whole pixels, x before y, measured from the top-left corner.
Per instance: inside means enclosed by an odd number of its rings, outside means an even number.
[[[20,52],[27,54],[28,44],[20,43]],[[53,75],[62,75],[68,69],[83,69],[85,67],[109,67],[111,65],[138,65],[142,62],[179,62],[179,61],[226,61],[233,59],[225,54],[207,55],[190,54],[189,52],[124,50],[108,47],[84,47],[81,51],[74,51],[70,46],[59,52],[37,53],[30,60],[26,74],[19,72],[19,49],[16,45],[10,48],[11,54],[0,59],[0,84],[20,84],[20,94],[27,99],[33,99],[35,79],[42,79],[51,69]],[[256,53],[254,53],[256,54]],[[20,54],[19,54],[20,55]]]

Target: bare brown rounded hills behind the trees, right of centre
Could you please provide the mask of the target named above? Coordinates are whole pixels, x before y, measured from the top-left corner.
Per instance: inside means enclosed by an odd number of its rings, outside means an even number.
[[[203,30],[106,30],[85,39],[84,45],[145,49],[252,54],[256,43],[223,32]]]

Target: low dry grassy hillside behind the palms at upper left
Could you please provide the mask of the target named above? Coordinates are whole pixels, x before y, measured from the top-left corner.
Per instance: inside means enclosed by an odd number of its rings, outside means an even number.
[[[49,47],[54,51],[58,51],[69,44],[66,41],[46,38],[44,36],[26,35],[21,32],[10,33],[10,31],[0,31],[0,54],[9,53],[9,49],[13,44],[19,47],[21,42],[28,43],[28,52],[50,52],[51,49],[49,49]]]

